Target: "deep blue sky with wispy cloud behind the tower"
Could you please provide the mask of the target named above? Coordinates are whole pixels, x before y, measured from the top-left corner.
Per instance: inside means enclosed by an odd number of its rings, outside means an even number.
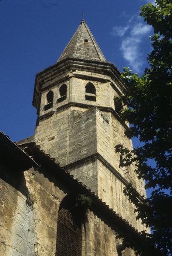
[[[36,73],[54,64],[85,20],[107,61],[141,73],[152,29],[139,17],[147,0],[1,0],[0,130],[18,141],[34,134]]]

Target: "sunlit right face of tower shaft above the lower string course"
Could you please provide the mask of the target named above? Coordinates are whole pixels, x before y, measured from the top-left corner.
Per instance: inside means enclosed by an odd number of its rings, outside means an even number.
[[[138,180],[133,166],[119,167],[120,157],[115,152],[115,146],[124,145],[132,149],[132,142],[124,136],[125,128],[111,113],[99,111],[96,113],[97,151],[110,163],[127,181],[133,184],[141,195],[146,195],[144,181]]]

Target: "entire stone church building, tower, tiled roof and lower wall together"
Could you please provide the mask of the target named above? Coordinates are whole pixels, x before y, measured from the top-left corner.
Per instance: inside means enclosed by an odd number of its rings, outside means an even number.
[[[114,100],[125,91],[82,20],[56,64],[36,75],[34,135],[16,145],[0,134],[0,255],[135,256],[146,227],[123,189],[146,193],[115,152],[132,148]]]

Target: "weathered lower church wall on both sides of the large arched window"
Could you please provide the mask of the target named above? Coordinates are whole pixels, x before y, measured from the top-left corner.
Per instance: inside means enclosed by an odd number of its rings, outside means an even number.
[[[58,210],[71,193],[68,184],[34,168],[23,172],[0,166],[0,172],[0,255],[55,256]],[[116,236],[101,212],[98,217],[88,211],[82,224],[82,256],[118,256]]]

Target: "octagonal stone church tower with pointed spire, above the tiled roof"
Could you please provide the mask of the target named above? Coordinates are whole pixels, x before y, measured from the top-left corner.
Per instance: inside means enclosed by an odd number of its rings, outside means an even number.
[[[119,116],[122,105],[114,102],[125,90],[119,70],[82,20],[56,64],[36,76],[34,141],[140,231],[144,227],[123,189],[132,183],[142,196],[144,182],[131,167],[119,167],[115,152],[119,143],[132,148],[124,136],[129,126]]]

